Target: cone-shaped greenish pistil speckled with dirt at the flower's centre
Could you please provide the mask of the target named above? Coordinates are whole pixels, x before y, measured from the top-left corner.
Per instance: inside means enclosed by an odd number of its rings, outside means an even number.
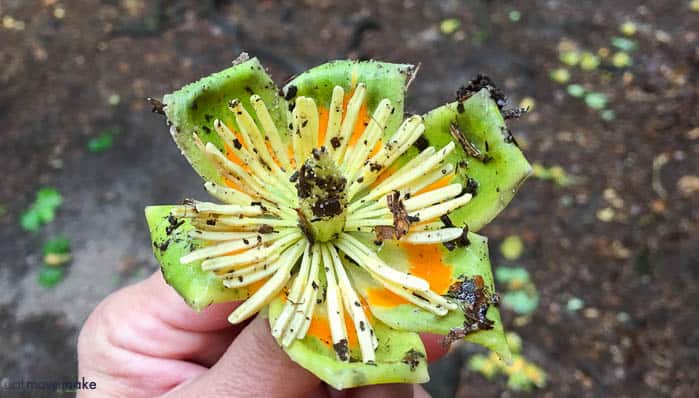
[[[325,147],[312,154],[292,176],[300,203],[299,225],[310,241],[327,242],[337,239],[345,226],[347,179]]]

